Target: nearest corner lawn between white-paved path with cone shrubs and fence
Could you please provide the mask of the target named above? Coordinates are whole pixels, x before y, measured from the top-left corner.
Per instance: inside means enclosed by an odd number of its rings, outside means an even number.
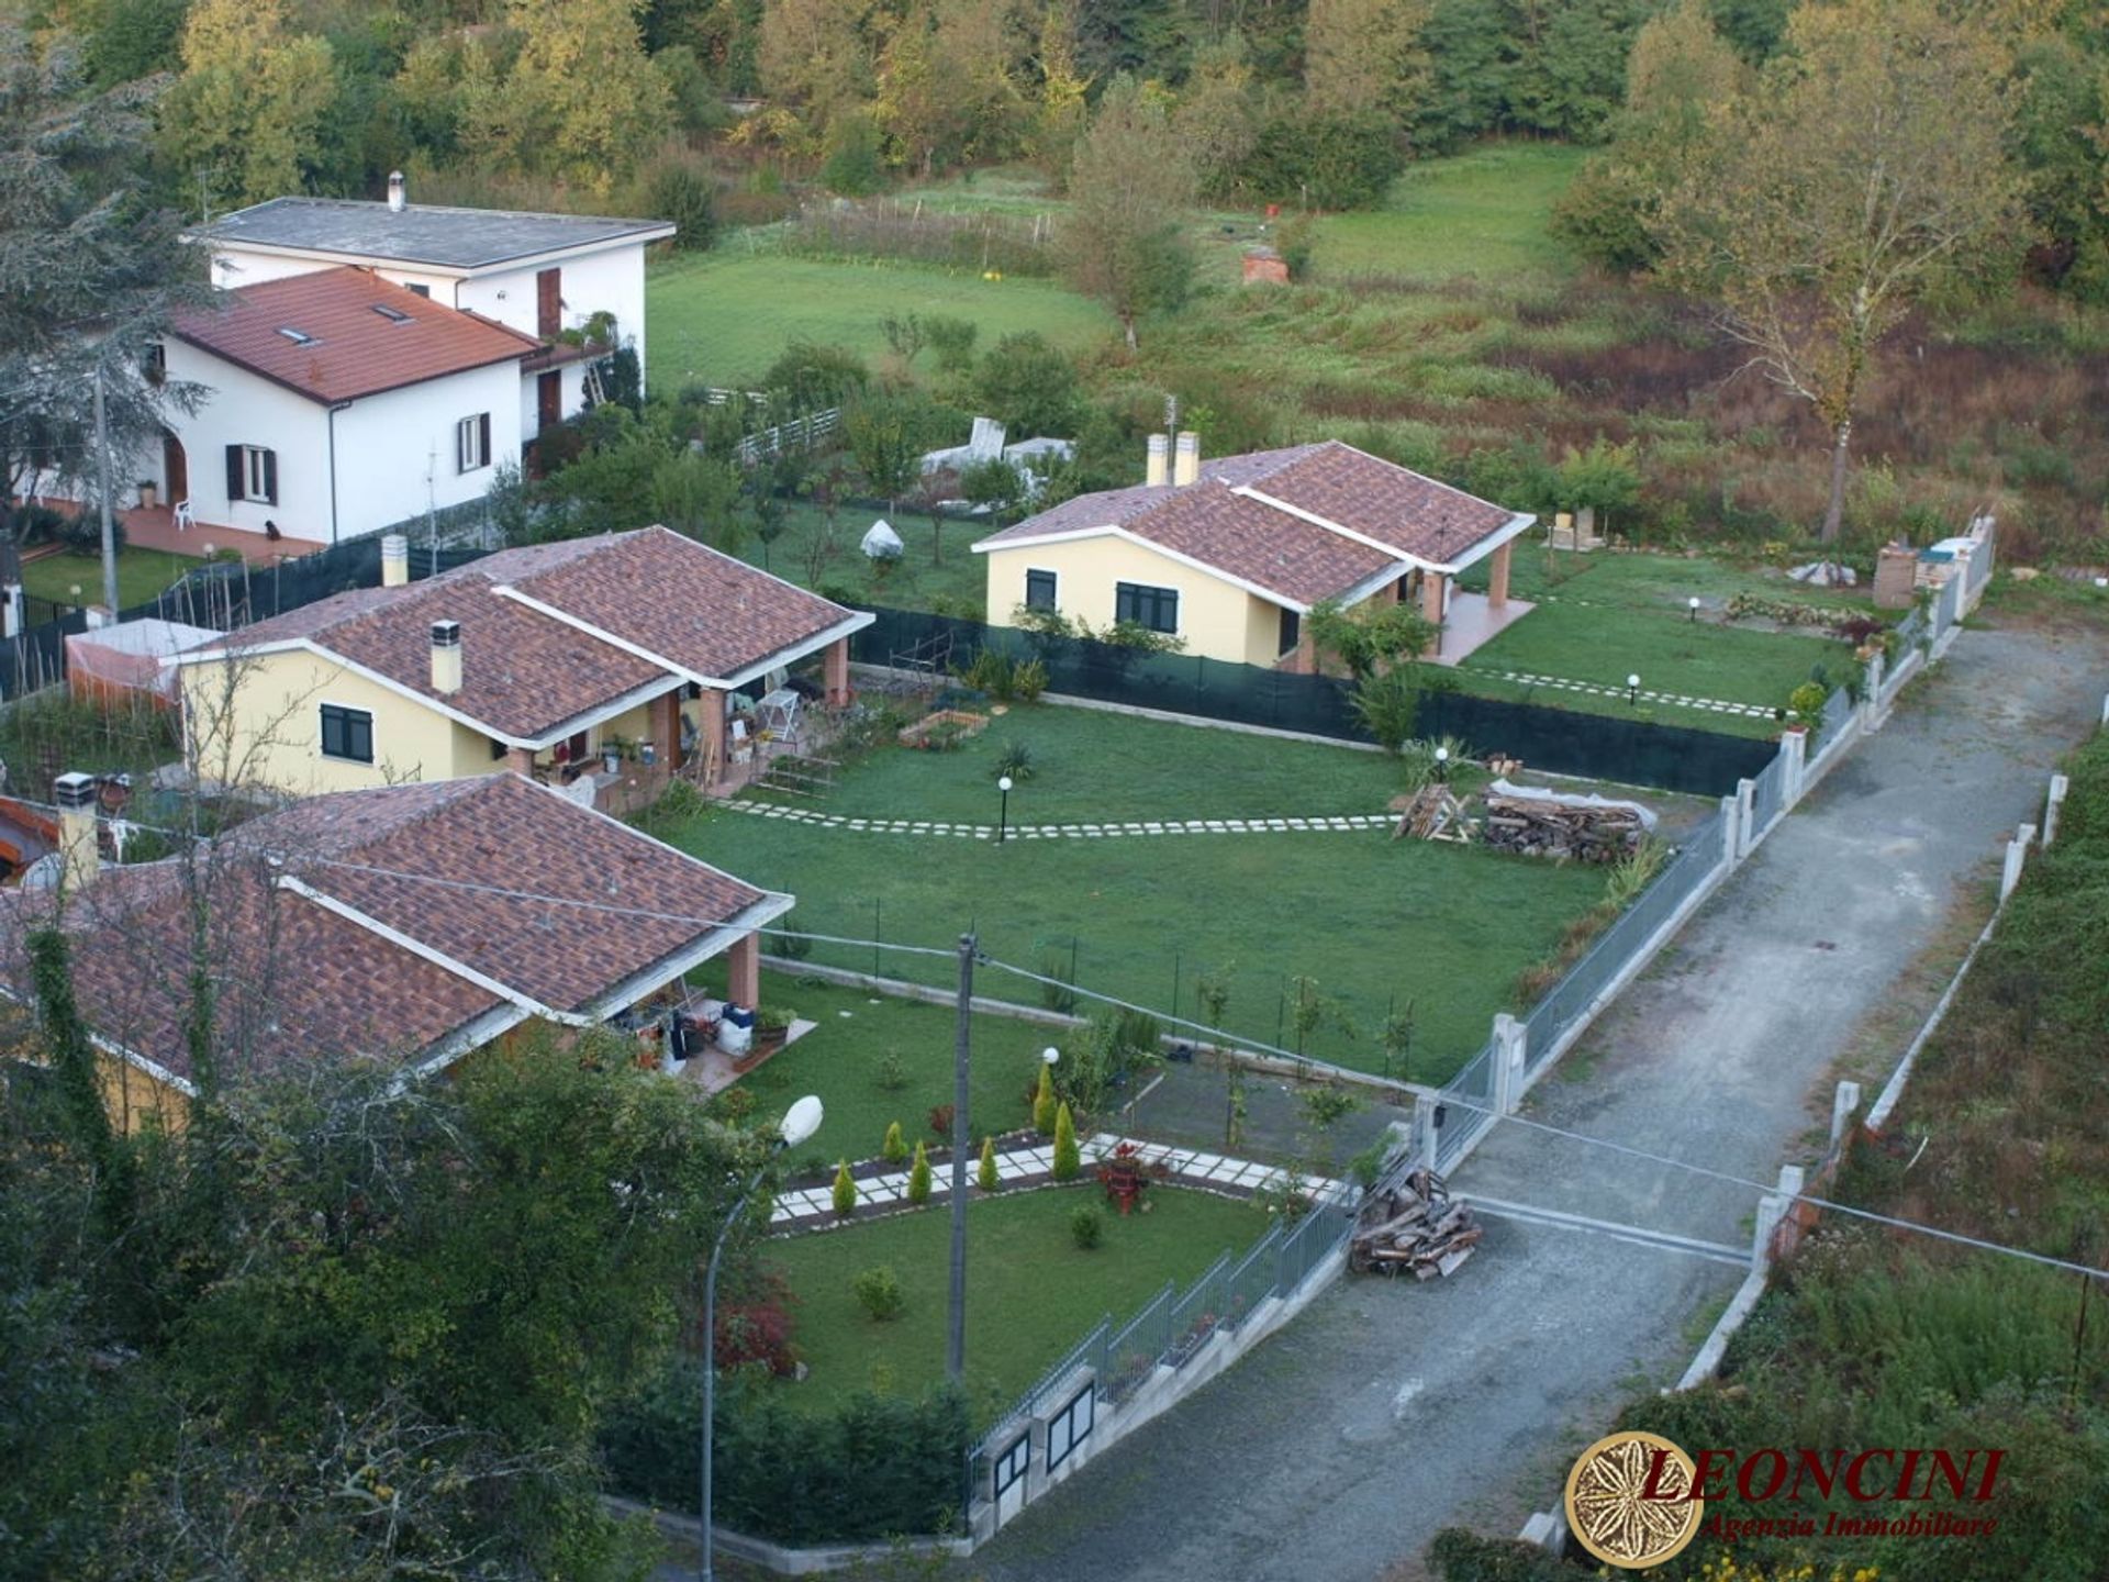
[[[1126,1318],[1166,1280],[1194,1280],[1268,1228],[1253,1204],[1206,1192],[1160,1185],[1147,1202],[1149,1213],[1122,1217],[1105,1209],[1097,1183],[995,1198],[976,1192],[966,1263],[966,1382],[976,1426],[993,1422],[1099,1318]],[[1088,1253],[1069,1236],[1069,1217],[1084,1204],[1099,1204],[1105,1223]],[[949,1234],[951,1215],[924,1209],[768,1245],[763,1261],[797,1295],[795,1344],[812,1369],[785,1386],[799,1407],[835,1407],[863,1388],[917,1394],[945,1375]],[[890,1323],[865,1316],[850,1295],[850,1280],[882,1263],[907,1291]]]

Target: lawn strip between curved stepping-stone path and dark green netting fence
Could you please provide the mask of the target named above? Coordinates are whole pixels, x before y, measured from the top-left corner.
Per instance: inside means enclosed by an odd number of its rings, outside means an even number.
[[[1402,785],[1381,753],[1038,702],[1012,705],[953,753],[879,751],[818,806],[993,827],[998,761],[1014,745],[1031,774],[1012,785],[1010,818],[1027,825],[1371,814]]]

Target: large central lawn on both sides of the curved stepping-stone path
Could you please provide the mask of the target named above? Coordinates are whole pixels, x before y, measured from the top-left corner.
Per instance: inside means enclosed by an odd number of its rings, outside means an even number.
[[[884,749],[854,766],[829,812],[995,823],[989,768],[1014,736],[1044,768],[1012,791],[1025,823],[1381,812],[1394,770],[1373,753],[1238,732],[1164,726],[1040,705],[1000,721],[1002,736],[960,753]],[[1196,1012],[1194,977],[1230,979],[1225,1025],[1295,1046],[1282,1015],[1289,979],[1339,1000],[1350,1038],[1329,1023],[1308,1055],[1381,1069],[1375,1031],[1413,1006],[1411,1069],[1440,1080],[1514,1004],[1516,975],[1548,956],[1603,894],[1603,873],[1508,858],[1388,831],[1282,831],[1012,840],[823,829],[704,810],[658,831],[742,877],[799,896],[797,926],[844,939],[920,945],[888,951],[892,977],[953,981],[949,947],[979,932],[1000,962],[1067,975],[1101,993]],[[873,953],[816,945],[814,962],[869,972]],[[979,991],[1040,1004],[1042,985],[983,968]],[[913,1118],[903,1118],[913,1120]]]

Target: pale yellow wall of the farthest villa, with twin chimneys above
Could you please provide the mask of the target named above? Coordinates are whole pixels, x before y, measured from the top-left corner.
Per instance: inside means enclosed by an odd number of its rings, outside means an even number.
[[[1240,586],[1124,538],[1080,538],[1065,544],[991,548],[989,620],[1008,626],[1025,603],[1025,574],[1054,574],[1054,605],[1071,620],[1114,624],[1114,584],[1141,582],[1179,591],[1179,637],[1185,654],[1234,664],[1274,664],[1280,607]]]

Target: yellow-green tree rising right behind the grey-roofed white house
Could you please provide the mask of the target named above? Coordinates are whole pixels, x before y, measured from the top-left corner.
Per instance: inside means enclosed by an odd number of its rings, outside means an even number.
[[[645,0],[512,0],[521,53],[502,105],[512,154],[610,192],[673,124],[637,15]]]

